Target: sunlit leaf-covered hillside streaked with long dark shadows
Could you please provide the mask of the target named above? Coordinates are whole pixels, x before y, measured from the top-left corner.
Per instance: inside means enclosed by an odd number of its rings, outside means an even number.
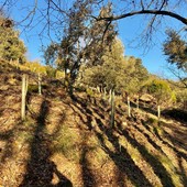
[[[21,76],[36,76],[0,64],[0,186],[2,187],[185,187],[187,124],[158,122],[145,109],[119,100],[116,125],[98,94],[75,92],[44,78],[42,96],[29,87],[21,121]]]

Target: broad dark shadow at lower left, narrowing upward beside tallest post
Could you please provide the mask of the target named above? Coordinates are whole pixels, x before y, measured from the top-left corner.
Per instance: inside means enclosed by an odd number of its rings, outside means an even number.
[[[37,124],[31,142],[31,157],[28,163],[26,174],[20,187],[72,187],[73,184],[57,169],[54,162],[50,161],[51,140],[45,133],[45,120],[48,114],[50,101],[44,100],[41,105]],[[56,175],[59,183],[52,184]]]

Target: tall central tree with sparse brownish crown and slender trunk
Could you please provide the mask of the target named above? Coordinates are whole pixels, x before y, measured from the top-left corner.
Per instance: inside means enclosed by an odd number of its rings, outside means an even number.
[[[59,44],[52,43],[45,51],[47,62],[57,62],[57,67],[65,70],[65,79],[73,94],[73,85],[82,64],[94,66],[102,63],[102,56],[114,40],[117,32],[111,24],[106,31],[106,22],[89,22],[89,1],[75,2],[70,9],[68,22],[64,30],[64,36]],[[100,10],[101,14],[111,14],[111,4]],[[67,74],[68,72],[68,74]]]

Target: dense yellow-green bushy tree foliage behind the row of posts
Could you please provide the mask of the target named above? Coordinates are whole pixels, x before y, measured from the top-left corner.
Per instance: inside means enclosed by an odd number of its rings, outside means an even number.
[[[118,94],[127,91],[138,92],[141,82],[148,74],[140,58],[133,56],[124,57],[124,47],[120,40],[116,38],[111,48],[102,56],[102,64],[81,69],[84,72],[82,82],[92,87],[116,89]]]

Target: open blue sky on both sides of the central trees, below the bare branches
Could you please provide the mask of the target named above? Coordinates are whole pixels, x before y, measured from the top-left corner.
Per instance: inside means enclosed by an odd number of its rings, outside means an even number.
[[[28,6],[29,2],[21,1],[21,3]],[[26,9],[20,9],[20,12],[18,13],[19,6],[20,4],[18,3],[16,7],[14,7],[14,11],[10,12],[10,15],[14,20],[20,20],[26,13]],[[134,46],[134,41],[136,42],[138,40],[141,40],[142,36],[140,33],[144,28],[146,28],[146,24],[143,23],[143,15],[134,15],[132,18],[127,18],[118,21],[119,37],[123,42],[125,48],[124,54],[140,57],[143,62],[143,65],[148,69],[150,73],[168,78],[168,76],[172,75],[166,69],[166,56],[164,56],[162,52],[162,44],[166,38],[164,32],[168,26],[178,30],[183,25],[174,19],[165,18],[165,23],[170,23],[170,25],[164,24],[162,28],[157,28],[156,34],[153,35],[154,43],[152,47],[150,47],[148,52],[144,53],[145,46]],[[24,41],[28,47],[26,56],[30,61],[42,61],[41,47],[42,45],[46,46],[50,43],[50,40],[46,38],[44,38],[43,43],[41,43],[38,33],[41,32],[42,28],[43,25],[41,22],[37,23],[32,30],[28,30],[21,34],[21,38]],[[21,30],[20,28],[18,29]]]

